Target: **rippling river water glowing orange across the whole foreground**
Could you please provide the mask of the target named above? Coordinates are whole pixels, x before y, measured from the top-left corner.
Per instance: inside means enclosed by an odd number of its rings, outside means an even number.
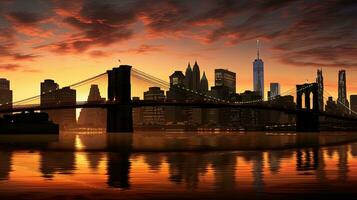
[[[356,139],[352,132],[2,135],[0,194],[14,199],[341,198],[356,193]]]

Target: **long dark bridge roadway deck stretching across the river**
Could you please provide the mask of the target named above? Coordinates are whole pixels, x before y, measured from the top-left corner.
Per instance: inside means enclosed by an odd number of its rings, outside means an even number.
[[[72,103],[60,103],[60,104],[27,104],[16,105],[12,108],[0,106],[0,113],[12,113],[12,112],[24,112],[24,111],[39,111],[39,110],[59,110],[70,108],[108,108],[115,105],[121,105],[119,101],[79,101],[76,104]],[[132,107],[148,107],[148,106],[182,106],[182,107],[196,107],[196,108],[246,108],[253,110],[271,110],[280,111],[287,114],[308,113],[312,110],[296,109],[284,106],[273,106],[267,103],[229,103],[218,101],[155,101],[155,100],[134,100],[129,104]],[[356,121],[357,117],[354,116],[341,116],[330,114],[326,112],[319,112],[319,116],[331,117],[335,119]]]

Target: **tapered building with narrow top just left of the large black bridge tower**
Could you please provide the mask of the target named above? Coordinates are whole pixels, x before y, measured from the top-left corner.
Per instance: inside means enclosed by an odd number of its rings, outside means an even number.
[[[105,98],[102,98],[98,85],[91,85],[88,95],[88,102],[104,102]],[[78,125],[87,127],[106,127],[107,114],[106,110],[102,108],[82,108],[79,117]]]

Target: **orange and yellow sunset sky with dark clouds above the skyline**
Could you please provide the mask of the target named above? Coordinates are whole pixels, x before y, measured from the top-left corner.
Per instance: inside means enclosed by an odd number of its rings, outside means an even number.
[[[39,94],[44,79],[66,86],[118,59],[167,81],[197,61],[210,86],[214,69],[225,68],[243,92],[253,87],[259,39],[265,91],[270,82],[286,91],[315,81],[322,68],[325,89],[336,95],[345,69],[350,95],[356,27],[354,0],[0,0],[0,77],[16,101]]]

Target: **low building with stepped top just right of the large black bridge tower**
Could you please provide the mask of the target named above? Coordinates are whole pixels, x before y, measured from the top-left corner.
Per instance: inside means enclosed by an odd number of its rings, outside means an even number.
[[[144,92],[144,100],[165,100],[165,92],[159,87],[150,87],[149,91]],[[143,110],[144,124],[164,125],[165,113],[164,108],[160,107],[145,107]]]

